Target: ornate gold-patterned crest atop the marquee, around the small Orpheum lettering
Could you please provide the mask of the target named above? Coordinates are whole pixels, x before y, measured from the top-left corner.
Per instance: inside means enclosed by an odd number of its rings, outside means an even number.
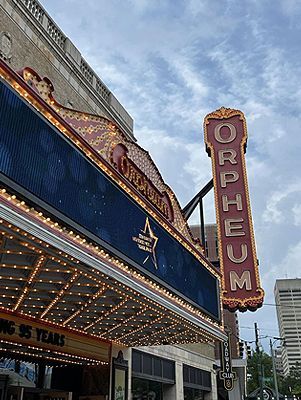
[[[73,110],[59,104],[53,96],[54,86],[48,78],[44,77],[42,79],[34,70],[28,67],[22,69],[20,75],[105,161],[114,166],[112,164],[113,149],[118,144],[124,145],[128,149],[128,158],[145,174],[158,191],[166,193],[169,197],[173,209],[173,219],[169,222],[198,251],[204,254],[200,241],[192,236],[174,192],[164,182],[158,168],[146,150],[128,140],[120,128],[107,118]],[[116,169],[116,166],[114,167]],[[148,200],[146,199],[146,201]],[[162,216],[165,218],[163,214]]]

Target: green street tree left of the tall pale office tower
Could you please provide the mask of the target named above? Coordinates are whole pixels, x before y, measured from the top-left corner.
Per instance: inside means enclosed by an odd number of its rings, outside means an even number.
[[[259,354],[253,353],[248,359],[247,364],[247,392],[250,394],[253,390],[260,387],[259,365],[262,366],[263,385],[274,388],[273,364],[272,358],[267,353],[261,351]]]

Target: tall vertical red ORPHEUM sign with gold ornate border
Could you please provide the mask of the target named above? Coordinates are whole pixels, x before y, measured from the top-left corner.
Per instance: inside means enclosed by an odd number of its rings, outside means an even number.
[[[235,311],[262,306],[245,165],[246,121],[238,110],[220,108],[204,121],[212,160],[224,307]]]

